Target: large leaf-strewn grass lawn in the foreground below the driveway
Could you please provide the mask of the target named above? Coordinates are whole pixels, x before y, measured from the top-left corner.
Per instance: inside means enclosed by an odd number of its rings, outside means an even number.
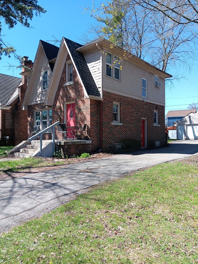
[[[0,263],[197,262],[197,156],[94,186],[0,235]]]

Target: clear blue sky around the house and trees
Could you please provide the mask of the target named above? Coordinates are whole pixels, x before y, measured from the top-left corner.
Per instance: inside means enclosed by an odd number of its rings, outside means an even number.
[[[95,5],[101,2],[95,0]],[[54,40],[54,37],[61,40],[67,37],[73,41],[84,43],[83,35],[87,32],[90,24],[95,20],[80,6],[92,6],[92,0],[59,0],[57,2],[49,0],[38,0],[39,5],[43,6],[47,12],[41,14],[41,17],[34,16],[30,24],[33,28],[24,28],[20,24],[13,29],[7,29],[2,22],[3,40],[16,48],[16,53],[20,56],[28,56],[34,61],[39,40]],[[84,13],[84,14],[83,14]],[[53,37],[54,36],[54,37]],[[93,37],[94,38],[94,37]],[[54,44],[54,42],[49,42]],[[13,57],[2,56],[0,60],[0,73],[21,77],[21,69],[16,67],[5,67],[9,65],[18,65],[18,61]],[[173,72],[168,72],[173,75]],[[185,69],[180,69],[180,73],[187,80],[174,81],[174,88],[166,88],[166,108],[165,114],[169,110],[187,109],[192,102],[198,102],[198,62],[195,61],[191,73]]]

